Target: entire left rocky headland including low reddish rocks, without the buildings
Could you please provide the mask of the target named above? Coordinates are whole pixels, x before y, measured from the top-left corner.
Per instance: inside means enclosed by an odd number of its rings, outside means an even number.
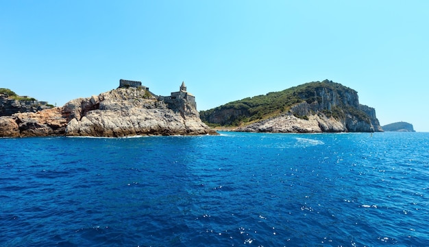
[[[73,99],[62,107],[0,117],[0,137],[217,134],[185,99],[166,104],[139,88]]]

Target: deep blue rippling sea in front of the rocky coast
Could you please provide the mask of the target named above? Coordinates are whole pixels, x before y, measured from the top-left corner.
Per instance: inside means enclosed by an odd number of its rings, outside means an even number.
[[[0,139],[0,246],[429,246],[429,133]]]

